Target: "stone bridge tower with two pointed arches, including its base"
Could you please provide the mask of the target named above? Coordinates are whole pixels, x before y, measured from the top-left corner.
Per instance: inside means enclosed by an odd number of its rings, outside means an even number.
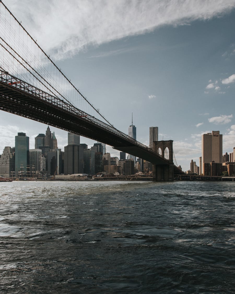
[[[152,180],[156,182],[174,181],[174,163],[173,163],[173,140],[168,141],[153,141],[152,149],[158,153],[161,149],[162,157],[165,155],[166,148],[169,149],[169,164],[153,164],[152,165]]]

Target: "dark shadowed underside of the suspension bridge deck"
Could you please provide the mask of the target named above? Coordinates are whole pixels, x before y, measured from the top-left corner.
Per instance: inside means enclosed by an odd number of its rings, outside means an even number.
[[[52,97],[53,100],[53,97]],[[34,121],[49,124],[65,131],[100,141],[113,148],[145,159],[155,165],[167,165],[167,160],[158,154],[140,148],[126,138],[104,129],[92,121],[71,113],[66,108],[53,105],[40,97],[26,93],[0,81],[0,109]],[[178,173],[177,167],[176,173]]]

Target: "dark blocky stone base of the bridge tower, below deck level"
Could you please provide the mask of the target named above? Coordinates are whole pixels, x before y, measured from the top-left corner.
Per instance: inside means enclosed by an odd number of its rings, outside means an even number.
[[[174,164],[152,165],[152,180],[154,182],[174,181]]]

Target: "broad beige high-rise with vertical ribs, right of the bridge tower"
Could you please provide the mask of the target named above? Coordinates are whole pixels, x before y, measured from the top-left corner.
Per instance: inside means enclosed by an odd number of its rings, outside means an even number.
[[[222,163],[222,135],[219,131],[212,131],[202,135],[202,167],[204,174],[204,164]]]

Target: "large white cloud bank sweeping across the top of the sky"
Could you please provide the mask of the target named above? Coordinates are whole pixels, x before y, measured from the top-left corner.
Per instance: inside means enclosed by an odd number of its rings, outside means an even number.
[[[211,19],[235,7],[234,0],[8,0],[7,5],[54,59],[162,25]]]

